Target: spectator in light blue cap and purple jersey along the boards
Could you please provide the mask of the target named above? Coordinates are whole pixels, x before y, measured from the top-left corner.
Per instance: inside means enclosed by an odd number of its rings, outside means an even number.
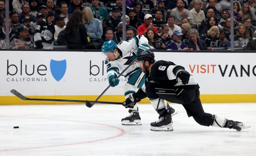
[[[175,30],[172,35],[172,40],[166,43],[167,48],[169,50],[192,50],[188,48],[185,43],[181,42],[182,35],[180,30]]]

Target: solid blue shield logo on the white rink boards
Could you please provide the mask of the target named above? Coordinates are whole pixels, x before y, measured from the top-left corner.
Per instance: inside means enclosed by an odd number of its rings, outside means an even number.
[[[67,68],[66,60],[61,60],[61,61],[51,60],[50,69],[51,69],[52,76],[56,81],[60,81],[62,79],[62,77],[66,72],[66,68]]]

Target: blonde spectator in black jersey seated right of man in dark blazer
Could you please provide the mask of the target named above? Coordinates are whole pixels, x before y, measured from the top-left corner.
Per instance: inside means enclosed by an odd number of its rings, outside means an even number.
[[[201,39],[205,41],[207,47],[220,47],[219,36],[219,28],[218,26],[214,25],[208,30],[207,35],[202,36]]]

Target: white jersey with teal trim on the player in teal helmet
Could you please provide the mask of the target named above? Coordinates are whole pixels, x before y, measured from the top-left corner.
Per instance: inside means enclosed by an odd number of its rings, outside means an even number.
[[[146,47],[144,49],[144,46],[142,44],[148,45],[148,39],[144,37],[143,35],[137,35],[133,37],[132,39],[129,39],[127,41],[121,41],[117,44],[117,50],[120,53],[120,56],[114,60],[105,60],[105,64],[107,64],[107,75],[108,77],[110,75],[118,75],[121,73],[126,67],[129,66],[129,64],[136,59],[137,57],[137,50],[140,46],[140,49],[142,50],[148,50]],[[136,72],[140,68],[137,67],[135,64],[130,66],[125,72],[124,77],[127,79],[129,78],[129,75]],[[107,77],[107,78],[108,78]]]

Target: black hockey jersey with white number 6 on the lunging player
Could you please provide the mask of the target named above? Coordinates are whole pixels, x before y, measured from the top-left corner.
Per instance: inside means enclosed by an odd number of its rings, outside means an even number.
[[[193,75],[190,75],[189,82],[186,85],[182,84],[182,82],[177,82],[175,74],[178,69],[184,69],[184,67],[177,66],[170,61],[156,61],[151,67],[150,73],[146,74],[147,82],[154,83],[156,86],[165,86],[172,89],[199,89],[199,85]]]

